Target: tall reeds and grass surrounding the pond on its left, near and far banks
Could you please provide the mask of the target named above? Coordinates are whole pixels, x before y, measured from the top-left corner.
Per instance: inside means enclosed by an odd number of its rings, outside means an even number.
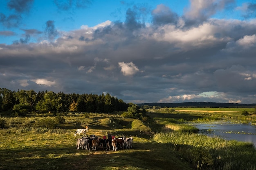
[[[182,108],[183,109],[183,108]],[[200,108],[195,108],[200,109]],[[234,123],[252,122],[254,115],[242,116],[240,112],[174,112],[148,113],[162,130],[153,140],[165,144],[175,155],[201,170],[252,170],[256,169],[256,150],[251,143],[225,140],[220,137],[191,133],[196,132],[183,122],[202,122],[226,119]],[[181,121],[182,120],[182,121]]]

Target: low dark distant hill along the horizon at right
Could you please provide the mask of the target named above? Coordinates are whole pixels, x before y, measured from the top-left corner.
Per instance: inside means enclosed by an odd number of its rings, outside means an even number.
[[[240,104],[240,103],[218,103],[218,102],[182,102],[182,103],[137,103],[138,106],[148,105],[148,106],[159,106],[159,107],[224,107],[224,108],[253,108],[256,104]]]

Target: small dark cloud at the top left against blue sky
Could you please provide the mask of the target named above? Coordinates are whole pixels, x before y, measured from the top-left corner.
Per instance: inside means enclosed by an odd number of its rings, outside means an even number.
[[[17,13],[28,12],[33,6],[34,0],[9,0],[7,7]]]

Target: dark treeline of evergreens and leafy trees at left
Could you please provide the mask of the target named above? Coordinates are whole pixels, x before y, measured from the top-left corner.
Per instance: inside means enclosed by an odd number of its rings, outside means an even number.
[[[110,94],[65,94],[63,92],[11,91],[0,88],[0,111],[11,111],[17,116],[30,112],[93,112],[111,113],[126,111],[129,104]]]

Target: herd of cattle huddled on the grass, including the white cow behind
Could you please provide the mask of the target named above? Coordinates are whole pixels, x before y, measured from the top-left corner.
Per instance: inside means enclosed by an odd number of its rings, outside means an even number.
[[[86,150],[118,150],[118,149],[129,149],[132,148],[132,137],[115,137],[108,133],[108,138],[103,136],[103,139],[95,135],[90,135],[90,137],[85,137],[85,131],[88,132],[88,126],[86,129],[77,129],[75,136],[83,133],[82,138],[76,139],[76,148]]]

